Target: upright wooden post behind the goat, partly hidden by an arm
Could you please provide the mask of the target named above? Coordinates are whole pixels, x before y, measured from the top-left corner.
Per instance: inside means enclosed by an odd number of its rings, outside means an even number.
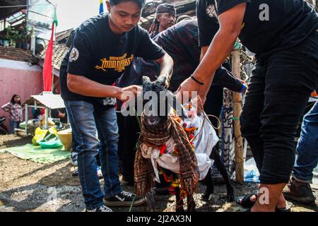
[[[241,79],[240,73],[240,50],[232,51],[232,73],[236,78]],[[233,121],[235,136],[235,179],[238,183],[244,183],[244,150],[243,138],[240,126],[240,113],[242,110],[242,95],[233,92]]]

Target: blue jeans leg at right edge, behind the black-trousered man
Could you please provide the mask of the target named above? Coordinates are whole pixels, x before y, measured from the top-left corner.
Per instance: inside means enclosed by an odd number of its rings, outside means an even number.
[[[312,171],[318,162],[318,102],[304,117],[297,151],[292,175],[299,182],[312,183]]]

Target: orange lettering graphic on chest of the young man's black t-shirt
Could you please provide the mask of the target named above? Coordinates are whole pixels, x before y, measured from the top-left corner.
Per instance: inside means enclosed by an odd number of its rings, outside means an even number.
[[[114,69],[114,71],[122,72],[125,71],[127,66],[130,66],[133,59],[134,54],[131,54],[131,56],[128,58],[127,54],[124,54],[124,56],[122,57],[109,57],[109,59],[100,59],[100,61],[102,61],[102,64],[95,66],[95,69],[102,71],[107,71],[107,69]]]

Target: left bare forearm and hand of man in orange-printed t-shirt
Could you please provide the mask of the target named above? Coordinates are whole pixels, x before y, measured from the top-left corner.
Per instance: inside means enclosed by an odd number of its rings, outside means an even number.
[[[112,85],[102,85],[83,76],[68,74],[67,86],[73,93],[88,97],[114,97],[122,101],[128,100],[126,97],[132,93],[137,95],[141,90],[137,85],[127,88],[119,88]],[[122,99],[124,97],[124,99]]]

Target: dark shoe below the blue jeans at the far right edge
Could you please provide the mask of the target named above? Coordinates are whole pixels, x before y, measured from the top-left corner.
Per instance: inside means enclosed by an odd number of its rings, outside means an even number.
[[[293,177],[283,189],[283,196],[302,204],[312,204],[315,200],[310,184],[298,182]]]

